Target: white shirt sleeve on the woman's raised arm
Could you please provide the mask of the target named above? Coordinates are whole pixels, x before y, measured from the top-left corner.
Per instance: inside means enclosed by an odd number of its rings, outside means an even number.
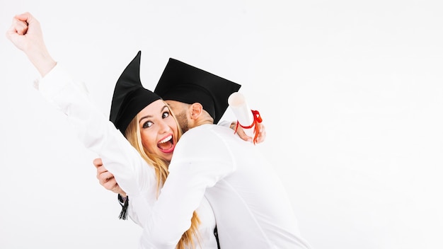
[[[75,81],[58,63],[38,82],[43,97],[67,115],[78,139],[102,158],[127,195],[139,195],[155,183],[154,168],[147,165],[129,141],[89,98],[83,83]]]

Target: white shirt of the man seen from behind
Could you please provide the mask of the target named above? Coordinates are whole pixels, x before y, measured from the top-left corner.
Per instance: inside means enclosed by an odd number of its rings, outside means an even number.
[[[222,249],[311,248],[301,238],[284,187],[254,144],[232,129],[201,125],[180,138],[169,175],[143,231],[143,243],[166,239],[162,224],[182,224],[202,197],[214,211]],[[180,207],[170,214],[167,207]],[[149,224],[149,225],[148,225]],[[159,226],[161,228],[159,228]]]

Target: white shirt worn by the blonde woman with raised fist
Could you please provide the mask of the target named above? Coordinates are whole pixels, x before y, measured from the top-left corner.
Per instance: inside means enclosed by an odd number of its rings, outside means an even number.
[[[134,149],[125,137],[118,131],[112,122],[98,110],[88,97],[85,86],[74,79],[62,66],[57,66],[38,82],[40,93],[53,103],[59,110],[67,115],[69,122],[74,126],[74,131],[79,140],[96,152],[102,158],[103,165],[130,197],[131,218],[137,224],[146,224],[151,216],[151,208],[156,202],[156,175],[154,168],[144,161],[136,149]],[[175,213],[180,209],[178,206],[166,207],[164,214]],[[195,241],[201,248],[217,248],[214,236],[214,214],[206,199],[201,199],[196,205],[197,214],[200,217],[199,227],[200,243]],[[184,219],[183,219],[184,220]],[[149,245],[140,245],[140,248],[175,248],[182,234],[188,230],[190,223],[164,224],[161,221],[156,224],[164,233],[173,234],[167,236],[168,241],[149,241]],[[149,224],[146,224],[149,226]],[[200,248],[200,247],[197,247]]]

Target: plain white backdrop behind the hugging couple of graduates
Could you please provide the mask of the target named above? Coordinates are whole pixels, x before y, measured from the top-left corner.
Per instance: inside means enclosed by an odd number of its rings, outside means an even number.
[[[105,115],[138,50],[146,88],[169,57],[241,83],[313,248],[443,248],[440,2],[0,0],[0,30],[33,13]],[[0,248],[135,248],[4,35],[0,69]]]

